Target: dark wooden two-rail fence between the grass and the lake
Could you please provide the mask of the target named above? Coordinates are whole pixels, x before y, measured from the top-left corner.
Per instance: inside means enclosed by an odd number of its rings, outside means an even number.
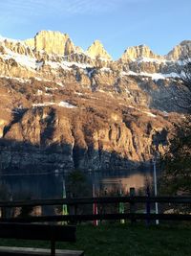
[[[0,218],[0,221],[11,222],[43,222],[43,221],[96,221],[96,220],[168,220],[168,221],[191,221],[191,214],[167,214],[151,213],[151,204],[158,202],[160,204],[188,204],[191,206],[191,197],[104,197],[104,198],[55,198],[39,199],[30,201],[0,201],[1,208],[25,207],[25,206],[45,206],[45,205],[67,205],[73,208],[73,214],[53,215],[53,216],[30,216],[26,218]],[[104,205],[113,203],[129,203],[129,213],[98,213],[98,214],[77,214],[79,205]],[[138,213],[136,205],[143,203],[145,213]]]

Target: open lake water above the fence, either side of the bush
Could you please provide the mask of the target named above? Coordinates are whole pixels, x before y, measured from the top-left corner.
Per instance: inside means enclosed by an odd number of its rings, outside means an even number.
[[[12,199],[62,198],[63,186],[66,190],[68,187],[68,176],[63,174],[1,175],[0,180]],[[96,190],[96,195],[100,191],[104,191],[106,195],[118,189],[122,189],[126,195],[131,187],[135,187],[137,191],[144,190],[148,181],[152,183],[152,178],[153,173],[150,169],[86,173],[90,194],[85,196],[93,196],[91,189],[93,187]]]

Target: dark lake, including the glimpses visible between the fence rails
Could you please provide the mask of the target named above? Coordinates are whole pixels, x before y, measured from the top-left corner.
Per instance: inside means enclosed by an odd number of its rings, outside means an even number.
[[[83,177],[82,183],[79,182],[80,176]],[[150,183],[150,187],[152,187],[153,170],[139,169],[126,172],[77,173],[77,175],[74,175],[72,183],[69,173],[10,174],[1,175],[0,180],[0,200],[66,198],[66,195],[67,197],[73,195],[73,197],[79,198],[124,196],[129,195],[131,187],[136,189],[137,195],[145,195],[146,184]],[[89,208],[91,209],[91,207]],[[85,211],[91,211],[89,208]],[[21,213],[20,211],[21,208],[18,207],[14,210],[7,209],[6,216],[18,216]],[[54,215],[61,212],[61,206],[36,206],[32,210],[32,214],[35,216]]]

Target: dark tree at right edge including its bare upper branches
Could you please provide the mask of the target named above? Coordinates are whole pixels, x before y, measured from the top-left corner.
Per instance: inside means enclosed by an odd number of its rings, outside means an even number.
[[[191,58],[184,58],[177,70],[180,82],[174,98],[185,114],[175,126],[163,156],[160,188],[168,195],[191,195]]]

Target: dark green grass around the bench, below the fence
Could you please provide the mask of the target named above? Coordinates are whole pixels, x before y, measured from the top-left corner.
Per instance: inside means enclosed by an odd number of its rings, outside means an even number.
[[[0,240],[0,245],[49,247],[46,242]],[[87,256],[190,256],[190,226],[102,224],[77,226],[75,244],[58,248],[80,249]]]

